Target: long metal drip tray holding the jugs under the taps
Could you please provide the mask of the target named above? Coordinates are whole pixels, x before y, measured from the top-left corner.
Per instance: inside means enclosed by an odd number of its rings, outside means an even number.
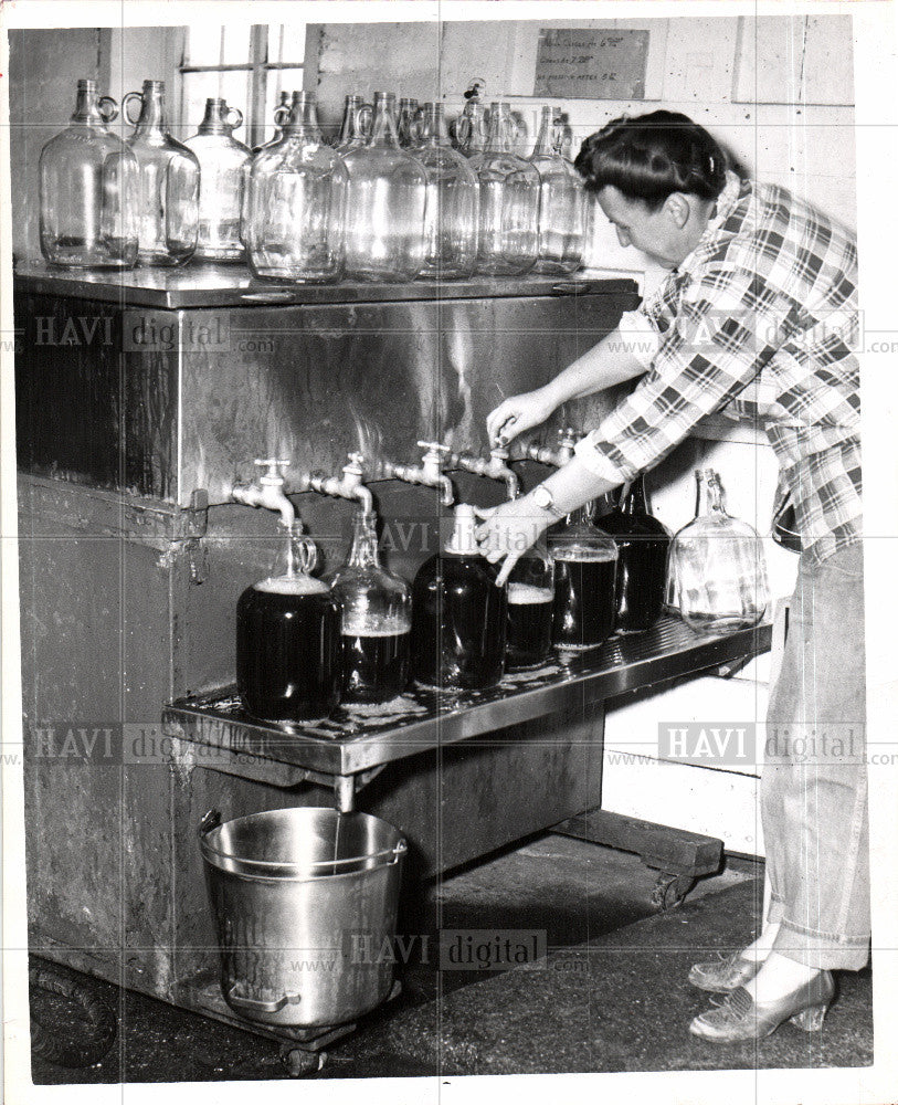
[[[277,725],[246,714],[230,686],[172,703],[162,720],[168,736],[299,769],[294,781],[302,772],[351,776],[425,749],[748,660],[767,652],[770,641],[768,623],[698,634],[678,618],[663,618],[646,633],[615,636],[599,649],[507,675],[487,691],[416,687],[381,706],[340,707],[320,720]]]

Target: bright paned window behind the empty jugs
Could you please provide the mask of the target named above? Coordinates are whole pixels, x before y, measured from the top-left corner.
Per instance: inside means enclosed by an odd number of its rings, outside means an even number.
[[[303,87],[305,49],[303,24],[188,27],[179,66],[182,131],[196,134],[205,101],[223,96],[243,113],[236,137],[247,146],[267,141],[282,90]]]

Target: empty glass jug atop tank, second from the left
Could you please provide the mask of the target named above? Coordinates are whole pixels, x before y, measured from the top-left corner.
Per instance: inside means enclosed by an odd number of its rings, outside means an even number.
[[[197,250],[200,162],[166,130],[162,81],[145,81],[144,91],[122,102],[140,103],[137,129],[128,139],[139,168],[138,259],[147,265],[180,265]]]

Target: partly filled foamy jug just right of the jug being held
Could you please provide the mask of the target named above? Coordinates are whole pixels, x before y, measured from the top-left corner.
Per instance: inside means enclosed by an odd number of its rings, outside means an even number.
[[[505,659],[509,671],[539,667],[552,651],[554,562],[545,541],[518,560],[508,577],[508,638]]]

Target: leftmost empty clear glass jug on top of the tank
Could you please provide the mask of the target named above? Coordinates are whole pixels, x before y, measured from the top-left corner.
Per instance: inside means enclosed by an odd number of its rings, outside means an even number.
[[[75,114],[41,150],[41,252],[71,269],[137,263],[137,161],[107,128],[115,101],[78,81]]]

